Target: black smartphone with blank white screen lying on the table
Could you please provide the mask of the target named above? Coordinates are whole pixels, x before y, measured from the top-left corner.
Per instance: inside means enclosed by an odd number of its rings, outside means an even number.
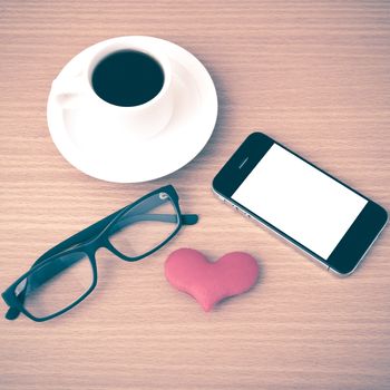
[[[340,275],[357,269],[388,221],[383,207],[262,133],[244,140],[213,189]]]

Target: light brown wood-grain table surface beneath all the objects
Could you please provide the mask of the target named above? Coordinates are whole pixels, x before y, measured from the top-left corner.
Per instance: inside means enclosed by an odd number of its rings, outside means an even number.
[[[144,184],[76,170],[46,123],[61,67],[125,35],[192,51],[220,100],[204,150]],[[51,245],[160,185],[201,215],[143,262],[99,252],[98,287],[68,314],[0,320],[1,390],[390,388],[389,230],[339,279],[211,191],[243,138],[263,129],[389,208],[390,2],[2,0],[0,52],[1,291]],[[213,260],[247,251],[260,282],[204,313],[164,277],[183,246]]]

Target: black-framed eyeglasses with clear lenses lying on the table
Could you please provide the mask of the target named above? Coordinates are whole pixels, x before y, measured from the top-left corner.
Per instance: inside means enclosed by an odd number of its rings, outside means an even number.
[[[42,254],[2,293],[10,306],[6,318],[14,320],[23,313],[47,321],[64,314],[95,289],[98,248],[134,262],[158,251],[183,225],[197,220],[195,214],[181,213],[172,185],[145,195]]]

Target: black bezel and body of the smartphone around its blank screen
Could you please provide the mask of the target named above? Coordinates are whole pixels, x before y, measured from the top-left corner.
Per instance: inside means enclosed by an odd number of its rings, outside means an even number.
[[[319,256],[316,253],[302,245],[276,226],[273,226],[267,221],[263,220],[260,215],[247,209],[244,205],[232,199],[232,195],[257,165],[257,163],[264,157],[267,150],[273,144],[276,144],[287,152],[292,153],[298,158],[302,159],[306,164],[311,165],[315,169],[320,170],[324,175],[331,177],[335,182],[340,183],[344,187],[349,188],[353,193],[360,195],[368,201],[364,208],[361,211],[359,216],[355,218],[351,227],[341,238],[337,247],[333,250],[331,255],[325,260]],[[245,213],[260,221],[264,225],[269,226],[281,236],[292,242],[298,247],[308,252],[311,256],[319,260],[325,266],[332,269],[339,274],[348,275],[352,273],[360,261],[363,259],[365,252],[370,248],[379,233],[384,227],[388,214],[383,207],[360,194],[355,189],[351,188],[347,184],[340,182],[338,178],[322,170],[314,164],[308,162],[296,153],[290,150],[284,145],[275,142],[263,133],[252,133],[236,149],[233,156],[222,167],[213,181],[213,189],[224,198],[227,198],[232,204],[235,204]]]

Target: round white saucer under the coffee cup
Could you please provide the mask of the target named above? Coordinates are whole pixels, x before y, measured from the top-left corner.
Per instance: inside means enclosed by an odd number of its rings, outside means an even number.
[[[170,60],[174,85],[174,113],[156,136],[128,145],[107,145],[94,150],[94,140],[78,142],[76,134],[86,126],[81,110],[60,107],[50,92],[48,126],[59,152],[76,168],[92,177],[115,183],[139,183],[168,175],[189,163],[209,139],[216,117],[217,96],[206,68],[182,47],[153,37],[126,37],[148,40]],[[99,43],[97,43],[99,45]],[[77,62],[96,45],[74,57],[61,70],[77,69]],[[123,144],[123,143],[121,143]],[[98,153],[97,153],[98,152]]]

